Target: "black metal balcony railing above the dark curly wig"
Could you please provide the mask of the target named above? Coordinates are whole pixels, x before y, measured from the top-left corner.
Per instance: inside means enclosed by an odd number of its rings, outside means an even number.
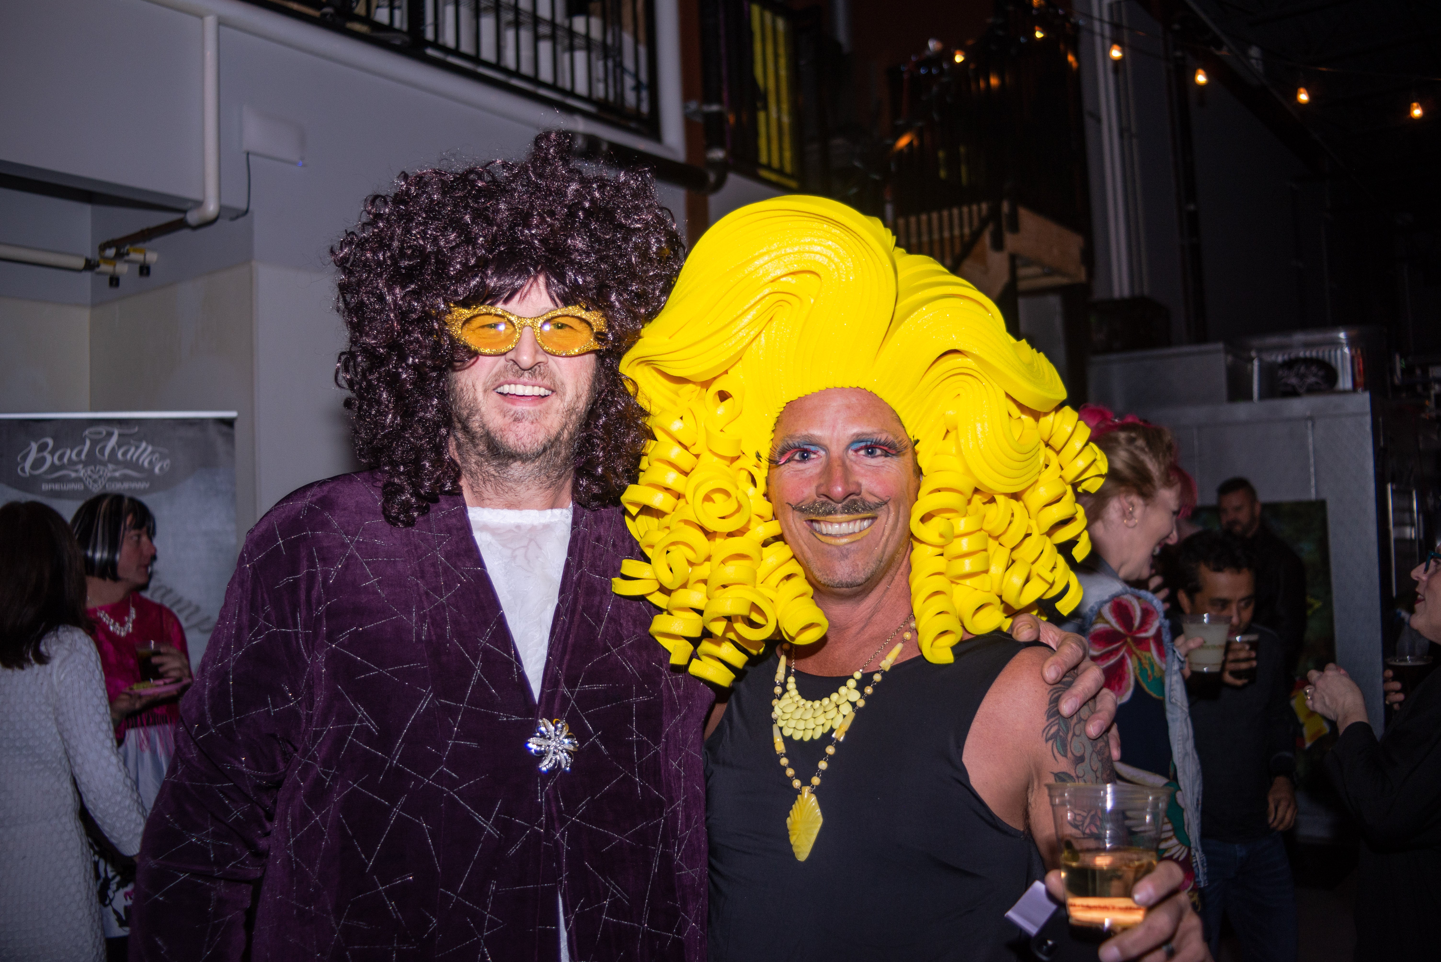
[[[660,134],[653,0],[249,0]]]

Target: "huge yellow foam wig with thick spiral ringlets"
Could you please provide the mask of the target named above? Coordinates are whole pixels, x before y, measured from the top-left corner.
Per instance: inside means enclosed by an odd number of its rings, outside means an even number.
[[[767,641],[826,634],[765,478],[781,409],[830,387],[878,395],[916,442],[911,598],[929,661],[953,660],[963,626],[1081,599],[1058,547],[1091,550],[1075,494],[1101,487],[1105,455],[1058,406],[1050,361],[873,217],[801,196],[735,210],[696,243],[621,372],[654,432],[621,497],[650,560],[624,562],[612,586],[663,609],[650,634],[700,678],[729,685]]]

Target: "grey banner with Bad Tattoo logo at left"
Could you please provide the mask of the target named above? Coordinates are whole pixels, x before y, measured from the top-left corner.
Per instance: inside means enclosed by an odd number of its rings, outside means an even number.
[[[0,415],[0,503],[69,520],[102,493],[156,516],[144,593],[180,618],[199,665],[235,570],[235,412]]]

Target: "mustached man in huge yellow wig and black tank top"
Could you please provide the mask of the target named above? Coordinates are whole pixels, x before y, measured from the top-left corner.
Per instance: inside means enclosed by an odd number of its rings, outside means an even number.
[[[1043,785],[1114,778],[1046,649],[997,631],[1079,599],[1105,459],[1055,369],[879,222],[780,197],[702,238],[621,370],[654,441],[615,589],[731,688],[712,962],[1014,958],[1006,913],[1059,860]],[[1159,907],[1102,958],[1206,958],[1179,883],[1140,883]]]

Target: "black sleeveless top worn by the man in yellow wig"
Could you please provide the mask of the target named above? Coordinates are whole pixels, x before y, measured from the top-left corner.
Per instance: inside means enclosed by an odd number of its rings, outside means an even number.
[[[895,665],[830,758],[804,863],[785,830],[798,792],[771,739],[775,654],[735,683],[706,740],[710,962],[1029,958],[1006,910],[1045,874],[1040,853],[961,763],[981,700],[1023,647],[983,635],[957,645],[953,664]],[[795,673],[806,698],[842,683]],[[803,783],[826,745],[785,739]]]

